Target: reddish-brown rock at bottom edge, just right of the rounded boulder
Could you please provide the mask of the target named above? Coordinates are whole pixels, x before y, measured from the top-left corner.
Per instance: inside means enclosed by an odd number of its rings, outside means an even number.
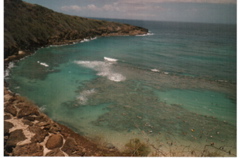
[[[76,141],[68,137],[65,144],[62,147],[62,151],[67,153],[69,156],[83,156],[85,153],[78,147]]]

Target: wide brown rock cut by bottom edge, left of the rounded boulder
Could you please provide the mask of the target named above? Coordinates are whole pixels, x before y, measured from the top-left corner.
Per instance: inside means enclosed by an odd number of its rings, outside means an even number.
[[[13,156],[43,156],[43,146],[30,143],[13,149]]]

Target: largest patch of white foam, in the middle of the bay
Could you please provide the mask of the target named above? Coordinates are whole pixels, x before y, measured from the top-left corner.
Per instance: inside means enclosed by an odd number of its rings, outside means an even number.
[[[121,82],[126,80],[126,77],[120,73],[116,73],[112,70],[114,63],[104,61],[75,61],[76,64],[91,68],[97,71],[98,76],[107,77],[111,81]]]

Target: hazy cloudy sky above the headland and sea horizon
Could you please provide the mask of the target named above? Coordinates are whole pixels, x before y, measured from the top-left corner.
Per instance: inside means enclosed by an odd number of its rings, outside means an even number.
[[[82,17],[236,23],[236,0],[24,0]]]

